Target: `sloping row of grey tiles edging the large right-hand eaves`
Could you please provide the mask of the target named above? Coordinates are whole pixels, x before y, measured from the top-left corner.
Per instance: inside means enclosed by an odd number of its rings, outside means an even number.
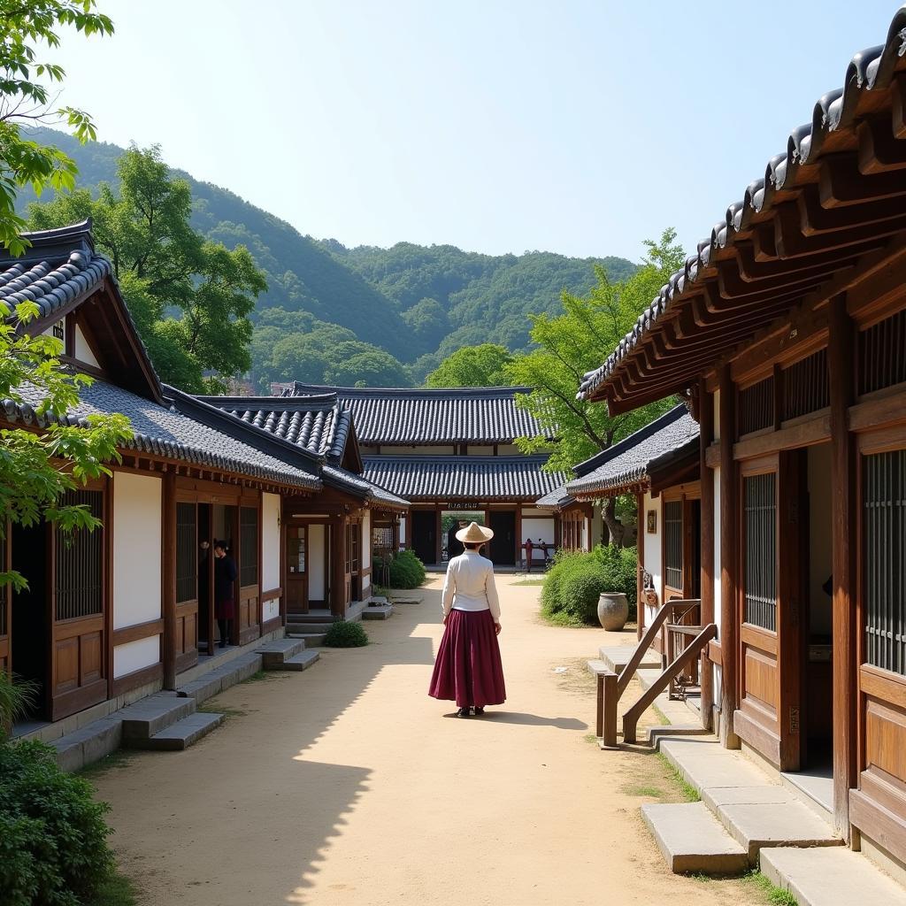
[[[733,245],[737,234],[751,230],[754,217],[771,211],[781,201],[789,200],[788,194],[785,196],[784,193],[797,187],[797,178],[804,167],[814,164],[824,154],[843,147],[839,142],[834,144],[834,133],[853,130],[858,120],[864,120],[875,112],[875,108],[884,101],[885,92],[890,89],[897,69],[902,68],[904,56],[906,5],[894,14],[887,40],[877,47],[856,53],[846,70],[843,88],[827,92],[815,103],[811,120],[790,134],[786,150],[767,162],[764,177],[751,182],[742,200],[727,208],[726,215],[711,229],[710,236],[699,243],[696,254],[690,255],[684,267],[660,288],[660,293],[639,315],[630,333],[601,367],[585,374],[578,393],[580,399],[589,397],[606,383],[622,361],[631,356],[651,333],[652,328],[704,281],[703,275],[713,273],[713,266],[709,268],[709,265],[715,264],[716,255]],[[878,100],[872,105],[871,101],[875,98]],[[889,105],[890,100],[886,103]],[[811,182],[814,178],[802,180],[805,181]]]

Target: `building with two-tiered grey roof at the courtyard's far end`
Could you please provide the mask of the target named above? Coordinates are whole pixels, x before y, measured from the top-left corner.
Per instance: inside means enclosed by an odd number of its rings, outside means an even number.
[[[411,503],[400,544],[426,564],[447,558],[451,516],[494,529],[489,555],[521,563],[526,538],[558,544],[559,520],[535,506],[563,477],[545,472],[546,456],[525,456],[516,438],[545,433],[516,406],[528,388],[396,390],[294,383],[282,402],[335,394],[352,411],[363,477]]]

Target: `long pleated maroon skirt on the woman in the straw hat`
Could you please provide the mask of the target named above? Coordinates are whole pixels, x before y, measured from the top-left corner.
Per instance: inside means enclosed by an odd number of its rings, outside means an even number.
[[[506,701],[504,667],[490,611],[450,611],[428,694],[455,701],[458,708]]]

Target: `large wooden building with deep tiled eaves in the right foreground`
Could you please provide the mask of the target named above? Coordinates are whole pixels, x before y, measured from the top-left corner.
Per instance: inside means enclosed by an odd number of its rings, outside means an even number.
[[[904,34],[906,8],[581,388],[614,414],[689,399],[702,621],[718,624],[703,716],[729,747],[811,775],[840,834],[899,865]]]

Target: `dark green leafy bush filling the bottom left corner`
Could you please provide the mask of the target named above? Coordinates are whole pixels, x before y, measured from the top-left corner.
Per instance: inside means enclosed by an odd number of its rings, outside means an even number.
[[[113,874],[108,806],[66,774],[53,748],[0,745],[0,892],[4,906],[79,906]]]

